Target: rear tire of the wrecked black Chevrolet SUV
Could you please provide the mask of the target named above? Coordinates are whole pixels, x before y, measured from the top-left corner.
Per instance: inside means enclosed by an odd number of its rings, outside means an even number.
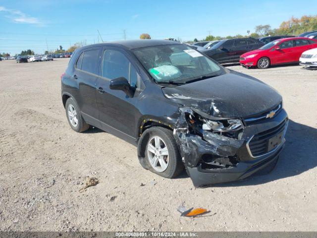
[[[67,99],[65,104],[65,111],[66,111],[66,117],[67,117],[68,123],[74,131],[84,132],[89,129],[90,125],[85,122],[85,120],[81,116],[77,103],[72,98]],[[74,113],[73,115],[70,115],[70,112],[75,112],[76,115],[74,115]],[[74,119],[71,120],[70,118],[74,118]],[[75,123],[76,120],[77,120],[77,123]]]

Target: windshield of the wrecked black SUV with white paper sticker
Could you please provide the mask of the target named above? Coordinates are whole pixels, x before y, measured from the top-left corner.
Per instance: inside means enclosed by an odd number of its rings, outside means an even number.
[[[133,52],[158,83],[186,83],[225,73],[222,66],[184,44],[144,47]]]

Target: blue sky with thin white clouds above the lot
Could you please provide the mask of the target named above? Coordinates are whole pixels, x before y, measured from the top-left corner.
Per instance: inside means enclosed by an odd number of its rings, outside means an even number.
[[[317,0],[0,0],[0,52],[69,48],[76,42],[204,39],[276,28],[291,16],[317,14]],[[100,32],[101,38],[98,36]]]

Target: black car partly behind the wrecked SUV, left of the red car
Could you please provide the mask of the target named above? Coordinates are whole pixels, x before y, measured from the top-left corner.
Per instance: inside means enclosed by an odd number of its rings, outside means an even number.
[[[219,63],[239,62],[240,56],[246,52],[257,50],[264,43],[254,38],[221,40],[210,49],[201,51]]]

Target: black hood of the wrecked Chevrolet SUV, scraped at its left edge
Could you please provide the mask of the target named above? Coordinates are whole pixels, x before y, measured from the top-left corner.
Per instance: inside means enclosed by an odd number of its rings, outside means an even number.
[[[211,119],[256,115],[282,101],[281,95],[267,84],[236,71],[176,87],[164,87],[162,91],[166,98],[197,113],[210,115]]]

